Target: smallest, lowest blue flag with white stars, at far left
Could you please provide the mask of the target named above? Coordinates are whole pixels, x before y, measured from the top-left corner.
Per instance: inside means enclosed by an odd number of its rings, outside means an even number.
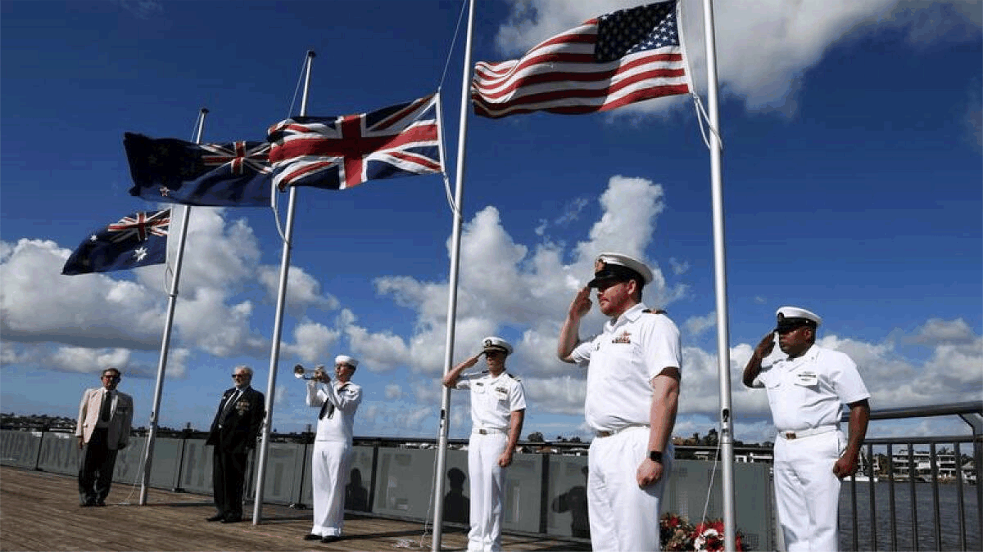
[[[92,233],[68,257],[62,274],[110,272],[167,260],[171,210],[138,212]]]

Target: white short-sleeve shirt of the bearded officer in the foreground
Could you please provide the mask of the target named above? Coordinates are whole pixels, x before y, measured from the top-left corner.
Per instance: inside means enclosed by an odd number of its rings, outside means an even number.
[[[635,304],[570,354],[588,366],[584,415],[594,431],[648,424],[652,378],[669,366],[682,369],[679,329],[665,314],[645,310]]]

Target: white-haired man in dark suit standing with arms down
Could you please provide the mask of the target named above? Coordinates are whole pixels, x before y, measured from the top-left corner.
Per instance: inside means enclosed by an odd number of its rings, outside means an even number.
[[[266,415],[262,393],[253,389],[253,368],[236,366],[236,386],[222,394],[206,445],[214,445],[211,484],[217,513],[209,522],[235,524],[243,519],[243,486],[249,451],[256,448]]]

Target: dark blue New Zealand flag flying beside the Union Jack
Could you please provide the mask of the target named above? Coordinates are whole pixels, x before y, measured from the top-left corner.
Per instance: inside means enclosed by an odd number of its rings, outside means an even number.
[[[194,143],[177,138],[123,139],[134,187],[151,201],[228,207],[269,205],[269,143]]]

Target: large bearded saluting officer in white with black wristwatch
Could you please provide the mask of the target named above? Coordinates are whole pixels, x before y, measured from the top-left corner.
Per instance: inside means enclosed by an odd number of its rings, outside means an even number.
[[[587,506],[594,550],[659,550],[659,516],[672,470],[672,426],[682,365],[679,329],[642,303],[652,270],[620,253],[601,253],[594,279],[570,304],[556,355],[587,366],[584,415],[595,432],[588,457]],[[581,341],[591,288],[609,317]]]

